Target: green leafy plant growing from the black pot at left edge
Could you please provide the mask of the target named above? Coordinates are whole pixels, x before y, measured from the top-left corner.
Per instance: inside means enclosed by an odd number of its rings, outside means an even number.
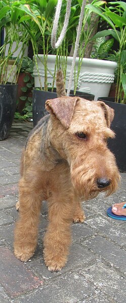
[[[19,10],[20,2],[14,0],[3,0],[0,3],[0,30],[4,27],[6,35],[4,44],[0,47],[0,83],[6,84],[10,75],[14,71],[14,67],[17,69],[14,73],[12,82],[20,72],[25,48],[28,43],[29,33],[25,30],[24,26],[19,22],[22,12]],[[7,52],[8,47],[8,52]],[[14,53],[18,50],[18,56],[12,65],[10,72],[8,73],[9,59],[13,58]],[[7,55],[6,55],[7,53]],[[18,64],[17,64],[18,63]]]

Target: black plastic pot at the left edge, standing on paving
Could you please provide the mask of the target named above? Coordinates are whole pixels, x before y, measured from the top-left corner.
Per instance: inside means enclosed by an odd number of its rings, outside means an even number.
[[[0,85],[0,140],[7,139],[16,110],[17,84]]]

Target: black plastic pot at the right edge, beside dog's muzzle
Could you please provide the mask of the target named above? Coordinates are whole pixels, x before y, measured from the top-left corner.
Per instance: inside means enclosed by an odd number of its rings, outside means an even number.
[[[119,170],[126,172],[126,105],[115,103],[113,97],[99,97],[98,100],[114,109],[111,129],[115,132],[115,138],[108,140],[108,147],[115,155]]]

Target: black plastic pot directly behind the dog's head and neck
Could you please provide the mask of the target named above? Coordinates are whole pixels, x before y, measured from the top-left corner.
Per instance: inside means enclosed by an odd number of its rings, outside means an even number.
[[[45,109],[46,100],[57,98],[57,93],[52,91],[44,91],[33,89],[33,98],[32,98],[32,113],[33,113],[33,126],[37,122],[48,115],[49,113]]]

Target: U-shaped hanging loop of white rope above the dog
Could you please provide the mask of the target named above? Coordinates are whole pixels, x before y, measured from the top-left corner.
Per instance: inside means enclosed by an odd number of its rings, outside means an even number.
[[[52,36],[51,36],[51,45],[52,45],[53,48],[58,48],[61,45],[61,43],[64,39],[64,36],[66,34],[67,26],[68,26],[68,23],[69,23],[70,10],[71,10],[71,0],[67,0],[64,26],[63,26],[61,34],[60,34],[60,36],[59,36],[59,38],[56,42],[56,36],[57,36],[57,29],[58,29],[58,23],[59,23],[59,18],[60,18],[61,6],[62,6],[62,0],[58,0],[57,8],[56,8],[56,14],[55,14],[55,18],[54,18]]]

